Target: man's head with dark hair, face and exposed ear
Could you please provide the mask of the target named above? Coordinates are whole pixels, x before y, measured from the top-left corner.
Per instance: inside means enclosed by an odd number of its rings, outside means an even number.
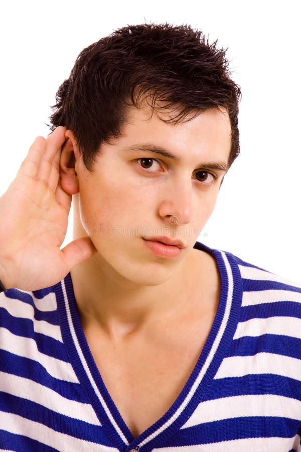
[[[80,54],[52,122],[68,129],[61,186],[97,272],[158,285],[194,259],[239,151],[239,94],[225,52],[189,27],[128,27]]]

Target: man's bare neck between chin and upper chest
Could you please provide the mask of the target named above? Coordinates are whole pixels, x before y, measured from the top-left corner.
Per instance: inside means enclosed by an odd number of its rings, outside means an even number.
[[[128,334],[147,324],[176,316],[192,287],[193,271],[185,260],[158,286],[130,284],[105,268],[99,254],[71,271],[83,327],[97,323],[109,334]],[[191,269],[191,271],[189,271]]]

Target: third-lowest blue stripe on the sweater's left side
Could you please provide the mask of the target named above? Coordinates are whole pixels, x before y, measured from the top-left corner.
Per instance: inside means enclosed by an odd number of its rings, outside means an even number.
[[[23,358],[10,352],[0,350],[0,371],[18,377],[28,378],[46,388],[52,389],[57,394],[68,400],[76,400],[88,403],[89,400],[79,383],[71,383],[52,377],[46,369],[37,361]]]

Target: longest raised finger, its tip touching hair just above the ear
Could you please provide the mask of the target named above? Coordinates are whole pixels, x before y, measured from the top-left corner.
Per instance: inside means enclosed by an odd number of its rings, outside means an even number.
[[[49,135],[46,140],[46,149],[40,159],[39,168],[36,174],[37,180],[42,180],[46,184],[48,183],[48,178],[50,176],[52,166],[57,166],[59,170],[59,164],[57,163],[59,156],[61,154],[62,146],[65,142],[65,127],[57,127],[55,131]]]

